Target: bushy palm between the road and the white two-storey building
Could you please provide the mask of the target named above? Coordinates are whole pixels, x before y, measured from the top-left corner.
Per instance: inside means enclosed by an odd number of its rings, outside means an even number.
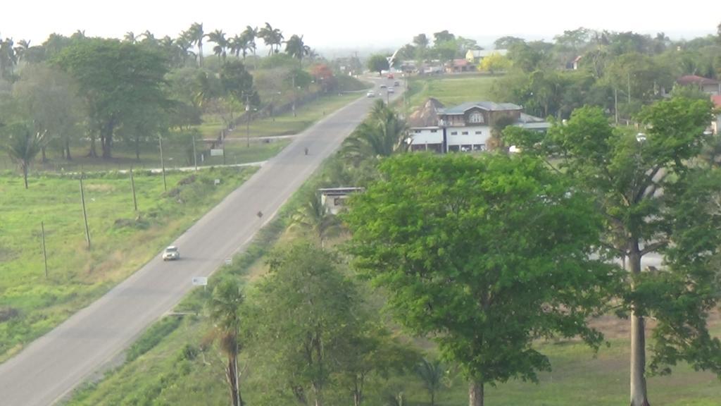
[[[367,158],[387,157],[407,149],[407,126],[383,100],[376,100],[366,121],[343,142],[341,153],[358,164]]]

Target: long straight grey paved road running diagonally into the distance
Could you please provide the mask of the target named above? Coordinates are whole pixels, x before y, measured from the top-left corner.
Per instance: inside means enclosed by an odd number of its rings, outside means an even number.
[[[396,94],[394,97],[399,97]],[[120,354],[193,286],[242,249],[361,122],[362,98],[311,127],[178,238],[182,260],[156,256],[109,293],[0,365],[0,405],[52,405]],[[304,155],[308,147],[309,155]],[[264,216],[256,215],[262,211]]]

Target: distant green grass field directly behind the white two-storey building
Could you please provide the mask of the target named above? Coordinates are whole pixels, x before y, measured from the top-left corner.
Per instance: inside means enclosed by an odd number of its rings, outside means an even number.
[[[415,109],[428,98],[436,98],[446,106],[479,100],[502,101],[491,98],[495,79],[495,76],[479,74],[412,77],[409,80],[409,105]]]

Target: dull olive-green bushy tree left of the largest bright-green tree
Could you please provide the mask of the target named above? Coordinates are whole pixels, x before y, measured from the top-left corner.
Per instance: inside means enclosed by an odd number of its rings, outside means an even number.
[[[338,360],[363,332],[361,299],[327,251],[308,243],[280,249],[252,297],[255,348],[271,379],[301,405],[324,404]]]

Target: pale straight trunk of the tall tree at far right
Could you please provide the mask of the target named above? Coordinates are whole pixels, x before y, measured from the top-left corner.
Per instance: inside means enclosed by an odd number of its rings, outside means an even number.
[[[629,254],[629,272],[632,276],[641,273],[641,256],[638,242],[632,243]],[[632,286],[632,288],[634,288]],[[649,406],[646,391],[646,329],[643,316],[631,310],[631,406]]]

